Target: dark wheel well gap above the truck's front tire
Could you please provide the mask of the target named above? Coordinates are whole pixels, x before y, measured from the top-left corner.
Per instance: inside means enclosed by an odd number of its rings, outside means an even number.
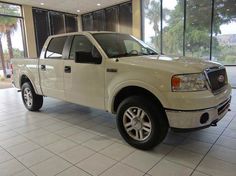
[[[134,96],[134,95],[141,95],[141,96],[147,97],[150,101],[153,101],[155,104],[163,107],[159,99],[155,95],[153,95],[150,91],[141,87],[137,87],[137,86],[129,86],[120,90],[120,92],[116,95],[114,103],[113,103],[113,112],[114,113],[117,112],[117,109],[120,103],[124,99],[130,96]]]

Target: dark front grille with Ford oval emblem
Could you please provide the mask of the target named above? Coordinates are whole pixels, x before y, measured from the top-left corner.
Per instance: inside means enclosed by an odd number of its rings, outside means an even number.
[[[225,68],[209,68],[206,74],[213,93],[221,90],[228,82]]]

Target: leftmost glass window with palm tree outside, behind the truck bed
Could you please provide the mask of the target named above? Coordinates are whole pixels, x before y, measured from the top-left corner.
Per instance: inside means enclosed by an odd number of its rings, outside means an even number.
[[[9,16],[7,16],[9,15]],[[26,56],[21,7],[0,3],[0,77],[11,75],[10,60]]]

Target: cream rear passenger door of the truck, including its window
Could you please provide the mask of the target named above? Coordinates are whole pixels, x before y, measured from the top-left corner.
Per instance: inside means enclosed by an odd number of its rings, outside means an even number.
[[[39,61],[43,95],[64,99],[64,48],[67,36],[52,38]]]

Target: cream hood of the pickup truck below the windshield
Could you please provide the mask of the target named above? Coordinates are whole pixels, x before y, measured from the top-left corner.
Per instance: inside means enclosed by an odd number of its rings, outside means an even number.
[[[179,56],[132,56],[119,58],[119,62],[138,67],[160,69],[174,74],[199,73],[209,67],[222,66],[219,63],[205,61],[199,58]]]

